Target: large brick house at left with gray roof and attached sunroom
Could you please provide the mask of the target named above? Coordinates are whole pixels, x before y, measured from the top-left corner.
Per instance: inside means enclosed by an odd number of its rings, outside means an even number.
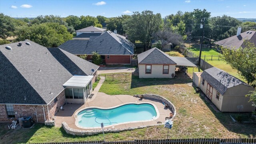
[[[66,102],[84,103],[99,67],[30,40],[1,45],[0,61],[0,121],[44,122]]]

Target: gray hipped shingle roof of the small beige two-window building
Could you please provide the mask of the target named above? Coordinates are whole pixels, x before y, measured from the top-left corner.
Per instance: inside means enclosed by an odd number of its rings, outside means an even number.
[[[158,48],[152,48],[138,54],[138,64],[176,64],[176,62]]]

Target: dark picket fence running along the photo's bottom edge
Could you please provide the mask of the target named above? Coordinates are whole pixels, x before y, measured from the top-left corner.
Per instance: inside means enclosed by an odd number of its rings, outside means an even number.
[[[116,142],[52,142],[44,144],[256,144],[256,138],[190,138],[162,140],[132,140]]]

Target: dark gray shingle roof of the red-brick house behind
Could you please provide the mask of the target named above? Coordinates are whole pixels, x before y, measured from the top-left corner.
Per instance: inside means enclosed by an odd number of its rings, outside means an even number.
[[[133,55],[134,44],[124,36],[107,31],[93,40],[69,40],[58,46],[72,54]]]

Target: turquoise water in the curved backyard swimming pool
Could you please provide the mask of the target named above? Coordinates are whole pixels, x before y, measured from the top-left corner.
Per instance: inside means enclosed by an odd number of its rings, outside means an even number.
[[[126,104],[112,109],[88,108],[78,113],[78,125],[82,127],[100,127],[132,122],[151,120],[156,117],[156,110],[151,104]]]

